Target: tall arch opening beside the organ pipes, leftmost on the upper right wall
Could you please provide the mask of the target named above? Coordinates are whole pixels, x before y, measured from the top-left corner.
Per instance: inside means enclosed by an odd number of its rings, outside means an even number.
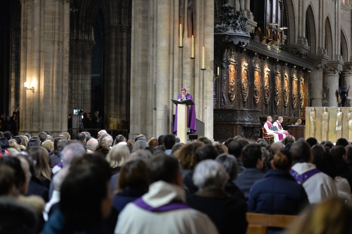
[[[287,29],[287,42],[285,44],[297,44],[297,16],[296,16],[296,7],[293,0],[284,0],[284,15],[283,15],[283,25],[288,27]]]

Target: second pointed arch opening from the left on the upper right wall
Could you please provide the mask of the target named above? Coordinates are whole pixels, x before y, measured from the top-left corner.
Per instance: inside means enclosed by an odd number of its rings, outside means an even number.
[[[310,54],[318,52],[318,33],[315,25],[315,14],[312,4],[309,4],[306,10],[306,38],[310,47]]]

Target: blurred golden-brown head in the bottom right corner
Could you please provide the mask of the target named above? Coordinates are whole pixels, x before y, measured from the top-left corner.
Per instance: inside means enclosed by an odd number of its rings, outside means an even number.
[[[330,198],[309,206],[300,215],[288,234],[336,234],[352,233],[350,217],[352,208],[349,203],[338,198]]]

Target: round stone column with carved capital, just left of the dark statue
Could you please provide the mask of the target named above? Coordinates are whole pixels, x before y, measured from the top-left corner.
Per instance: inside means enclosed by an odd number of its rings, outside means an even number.
[[[328,61],[324,69],[323,88],[329,89],[329,106],[338,106],[337,92],[339,90],[339,75],[342,71],[340,61]]]

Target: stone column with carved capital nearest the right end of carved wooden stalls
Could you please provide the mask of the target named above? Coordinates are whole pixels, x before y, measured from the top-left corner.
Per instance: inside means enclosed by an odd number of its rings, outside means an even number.
[[[310,71],[310,106],[322,106],[323,68],[326,67],[328,56],[325,54],[310,54],[307,59],[313,60],[315,69]]]

